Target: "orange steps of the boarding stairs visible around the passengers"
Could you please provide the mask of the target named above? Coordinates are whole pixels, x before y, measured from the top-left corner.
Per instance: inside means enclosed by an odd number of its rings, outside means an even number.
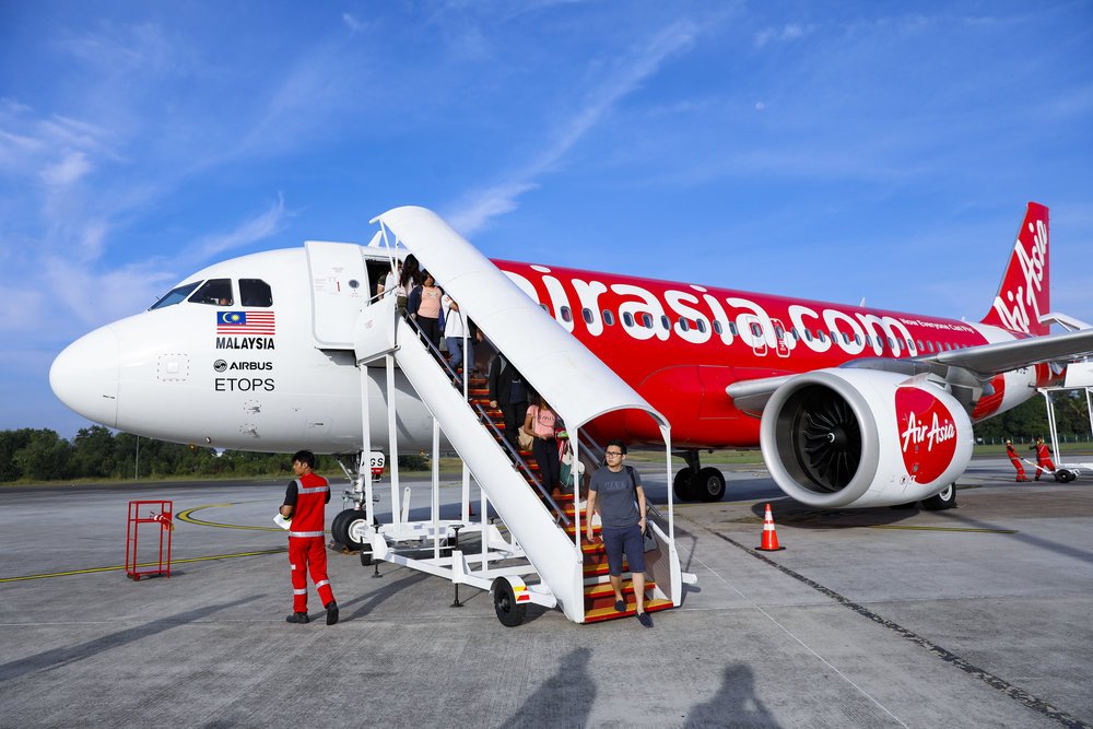
[[[462,374],[462,371],[459,371]],[[479,405],[485,413],[486,419],[493,424],[491,428],[495,439],[501,440],[505,433],[505,419],[501,410],[490,407],[490,391],[485,378],[473,376],[470,378],[468,396],[472,405]],[[485,424],[485,423],[483,423]],[[539,478],[539,465],[530,450],[520,450],[520,457],[528,466],[528,471],[522,471],[528,487],[539,495],[534,485]],[[540,496],[541,497],[541,496]],[[573,494],[561,494],[552,496],[554,502],[561,506],[562,513],[571,520],[569,526],[560,526],[566,536],[572,540],[574,532],[574,497]],[[542,499],[541,501],[545,501]],[[581,506],[584,503],[581,502]],[[584,528],[585,514],[581,512],[581,532]],[[580,551],[584,556],[584,599],[585,599],[585,622],[595,623],[616,618],[633,616],[637,612],[637,601],[634,597],[634,580],[630,573],[630,565],[623,561],[623,598],[626,601],[626,610],[619,612],[614,609],[614,590],[608,581],[608,557],[603,548],[603,542],[599,541],[600,527],[596,525],[592,532],[597,539],[589,542],[587,537],[581,536]],[[657,585],[649,578],[645,581],[645,609],[649,612],[668,610],[672,607],[672,601],[665,598],[654,597],[657,593]]]

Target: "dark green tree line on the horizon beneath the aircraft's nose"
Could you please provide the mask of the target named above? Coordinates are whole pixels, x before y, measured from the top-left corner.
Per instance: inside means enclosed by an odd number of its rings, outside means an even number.
[[[139,440],[139,451],[138,451]],[[48,428],[0,431],[0,482],[75,479],[160,479],[167,477],[292,475],[291,455],[223,450],[138,438],[102,425],[81,428],[69,442]],[[318,470],[338,472],[331,456],[319,456]],[[400,456],[399,468],[428,468],[425,456]]]

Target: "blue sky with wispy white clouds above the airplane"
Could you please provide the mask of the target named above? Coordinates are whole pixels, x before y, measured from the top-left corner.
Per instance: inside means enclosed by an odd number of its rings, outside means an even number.
[[[433,208],[487,255],[1093,321],[1093,2],[0,2],[0,428],[188,273]]]

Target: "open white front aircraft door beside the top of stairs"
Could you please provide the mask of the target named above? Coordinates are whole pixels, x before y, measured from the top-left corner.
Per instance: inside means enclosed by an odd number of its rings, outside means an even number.
[[[353,327],[368,305],[368,272],[361,246],[308,240],[312,331],[319,349],[352,350]]]

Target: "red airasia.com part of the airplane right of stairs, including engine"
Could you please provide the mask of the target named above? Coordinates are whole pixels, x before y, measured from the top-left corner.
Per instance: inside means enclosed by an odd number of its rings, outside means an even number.
[[[979,322],[495,263],[672,423],[690,466],[675,480],[680,498],[724,493],[720,472],[700,468],[700,450],[756,446],[798,501],[929,497],[966,467],[973,421],[1061,381],[1061,361],[1090,349],[1088,331],[1050,337],[1041,321],[1050,311],[1048,211],[1037,203]],[[639,414],[607,415],[592,433],[660,442]]]

